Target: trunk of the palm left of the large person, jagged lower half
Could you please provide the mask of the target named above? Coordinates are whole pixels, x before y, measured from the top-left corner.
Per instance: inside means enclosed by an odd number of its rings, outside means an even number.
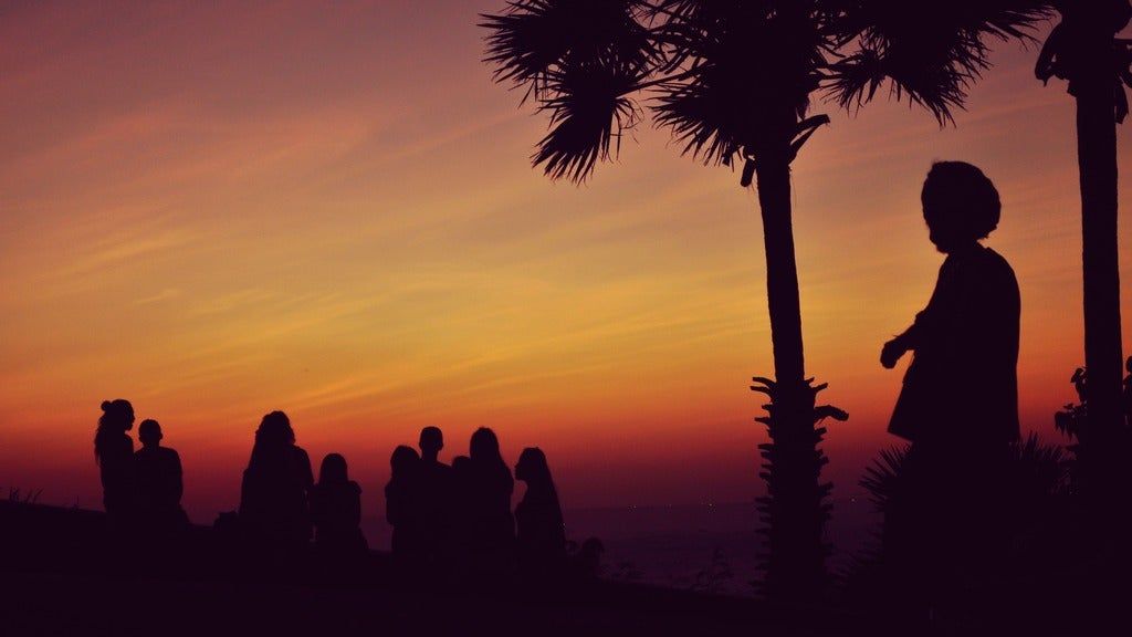
[[[815,391],[805,380],[788,155],[764,154],[756,175],[775,375],[769,415],[758,418],[771,439],[761,445],[761,475],[767,484],[758,504],[766,537],[764,592],[787,603],[813,603],[825,587],[824,499],[830,485],[818,481],[825,464],[818,449],[824,430],[814,427]]]

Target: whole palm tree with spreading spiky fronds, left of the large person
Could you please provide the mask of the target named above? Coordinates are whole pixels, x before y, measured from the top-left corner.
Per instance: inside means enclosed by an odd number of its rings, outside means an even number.
[[[744,187],[757,179],[774,379],[756,376],[752,389],[770,398],[757,419],[771,439],[760,508],[774,597],[805,601],[824,585],[831,485],[821,483],[817,423],[847,418],[815,407],[825,385],[806,376],[803,350],[790,164],[830,121],[812,101],[859,108],[887,85],[950,121],[987,66],[984,36],[1020,37],[1038,17],[1022,3],[964,0],[924,20],[898,0],[511,0],[483,16],[495,78],[549,116],[532,159],[550,178],[588,179],[648,107],[685,154],[743,164]]]

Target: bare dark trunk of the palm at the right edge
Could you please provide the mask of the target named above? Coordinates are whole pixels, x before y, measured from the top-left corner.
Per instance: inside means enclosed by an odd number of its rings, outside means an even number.
[[[1089,372],[1088,431],[1082,432],[1081,443],[1090,456],[1104,455],[1105,449],[1115,451],[1114,436],[1124,425],[1115,97],[1113,79],[1105,77],[1108,75],[1103,73],[1073,87],[1081,169],[1084,362]]]

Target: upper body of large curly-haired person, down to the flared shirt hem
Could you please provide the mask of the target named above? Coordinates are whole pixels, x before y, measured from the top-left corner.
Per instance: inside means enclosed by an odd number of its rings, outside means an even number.
[[[889,431],[955,451],[1000,451],[1019,438],[1020,299],[1010,264],[979,244],[998,224],[998,192],[974,165],[940,162],[921,199],[931,240],[947,256],[927,307],[881,353],[892,368],[915,351]]]

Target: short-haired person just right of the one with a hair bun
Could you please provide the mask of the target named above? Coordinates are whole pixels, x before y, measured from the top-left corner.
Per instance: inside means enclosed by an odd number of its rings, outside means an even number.
[[[163,435],[157,421],[138,425],[142,449],[134,455],[138,481],[138,519],[151,530],[172,530],[188,523],[181,509],[181,457],[161,445]]]

